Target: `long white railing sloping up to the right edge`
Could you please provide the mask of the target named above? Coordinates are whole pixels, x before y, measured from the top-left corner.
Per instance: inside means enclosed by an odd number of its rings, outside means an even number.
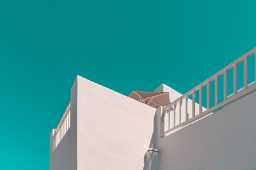
[[[214,74],[204,82],[200,83],[200,85],[196,86],[194,89],[190,90],[183,96],[179,97],[172,103],[168,104],[167,106],[164,107],[163,109],[163,119],[162,119],[162,135],[167,136],[168,134],[171,134],[172,132],[177,131],[178,129],[191,124],[192,122],[195,122],[199,118],[205,117],[206,115],[209,115],[210,113],[220,110],[227,104],[230,104],[237,99],[240,99],[241,97],[244,97],[256,90],[256,85],[255,85],[255,79],[256,79],[256,56],[253,55],[256,52],[256,47],[250,50],[250,52],[244,54],[242,57],[239,59],[235,60],[231,64],[229,64],[227,67],[221,69],[218,73]],[[255,57],[254,63],[252,63],[255,68],[254,68],[254,73],[255,73],[255,78],[252,83],[248,85],[248,58],[249,57]],[[240,64],[243,62],[243,88],[237,90],[237,64]],[[251,63],[250,63],[251,64]],[[233,69],[233,92],[230,96],[227,95],[228,92],[228,86],[227,86],[227,71],[230,69]],[[239,72],[240,73],[240,72]],[[253,74],[253,73],[252,73]],[[223,84],[221,86],[223,87],[223,101],[219,102],[219,77],[222,77],[223,75]],[[211,89],[210,89],[210,83],[214,82],[214,106],[210,106],[210,99],[213,97],[210,97],[211,94]],[[240,81],[239,81],[240,82]],[[242,82],[240,82],[242,83]],[[206,105],[207,108],[203,107],[203,87],[206,86]],[[199,93],[198,93],[199,91]],[[196,103],[195,99],[195,94],[199,94],[199,105]],[[191,99],[189,99],[191,98]],[[188,112],[188,101],[191,101],[191,112]],[[185,104],[185,106],[184,106]],[[179,105],[179,107],[177,107]],[[182,106],[183,105],[183,106]],[[196,114],[195,108],[198,106],[198,112]],[[179,109],[177,109],[179,108]],[[183,109],[183,110],[182,110]],[[166,113],[169,113],[168,116],[168,121],[166,121]],[[172,125],[170,125],[171,117],[170,114],[172,114]],[[183,114],[183,115],[182,115]],[[184,115],[185,114],[185,115]],[[190,115],[190,116],[189,116]],[[177,117],[179,116],[179,119],[177,121]],[[182,117],[184,117],[184,120],[182,122]],[[166,125],[167,124],[167,125]],[[167,128],[166,128],[167,127]]]

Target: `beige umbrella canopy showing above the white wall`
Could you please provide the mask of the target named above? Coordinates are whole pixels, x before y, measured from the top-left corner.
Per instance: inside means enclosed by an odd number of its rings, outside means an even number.
[[[158,108],[159,106],[166,106],[170,104],[170,98],[168,92],[143,92],[133,90],[128,97],[140,101],[141,103]]]

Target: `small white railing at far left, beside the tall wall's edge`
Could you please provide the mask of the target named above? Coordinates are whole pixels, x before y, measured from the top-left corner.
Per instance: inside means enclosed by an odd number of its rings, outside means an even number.
[[[54,150],[57,148],[61,139],[65,136],[70,127],[70,103],[68,103],[67,109],[61,117],[60,123],[54,131]]]

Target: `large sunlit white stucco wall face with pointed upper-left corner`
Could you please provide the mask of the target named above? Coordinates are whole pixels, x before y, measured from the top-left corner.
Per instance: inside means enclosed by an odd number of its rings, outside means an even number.
[[[147,169],[156,109],[77,76],[77,169]]]

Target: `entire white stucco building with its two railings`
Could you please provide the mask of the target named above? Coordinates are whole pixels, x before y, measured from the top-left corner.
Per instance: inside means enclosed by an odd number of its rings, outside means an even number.
[[[184,95],[161,85],[155,91],[169,92],[170,104],[158,108],[77,76],[51,132],[50,170],[256,169],[255,52]],[[237,80],[239,71],[243,80]]]

